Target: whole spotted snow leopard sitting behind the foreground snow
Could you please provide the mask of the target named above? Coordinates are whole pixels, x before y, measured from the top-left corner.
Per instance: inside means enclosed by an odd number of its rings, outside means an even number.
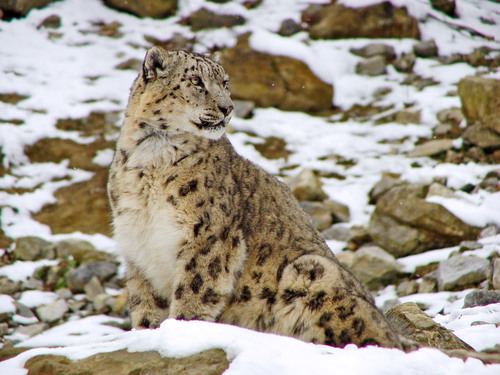
[[[210,57],[155,47],[132,86],[108,191],[133,326],[203,319],[400,347],[289,189],[234,151],[227,81]]]

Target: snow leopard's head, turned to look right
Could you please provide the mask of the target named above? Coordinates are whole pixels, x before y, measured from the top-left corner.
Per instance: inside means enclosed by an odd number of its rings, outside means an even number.
[[[132,86],[127,112],[138,126],[218,139],[234,109],[229,76],[216,58],[151,48]]]

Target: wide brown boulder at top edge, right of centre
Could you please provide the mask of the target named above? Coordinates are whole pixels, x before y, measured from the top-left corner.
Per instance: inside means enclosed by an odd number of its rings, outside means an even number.
[[[389,1],[362,8],[329,4],[311,17],[312,39],[420,38],[417,21]]]

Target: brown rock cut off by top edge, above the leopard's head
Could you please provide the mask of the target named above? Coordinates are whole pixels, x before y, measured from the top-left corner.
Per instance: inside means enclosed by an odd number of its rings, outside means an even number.
[[[166,18],[177,10],[177,0],[104,0],[104,4],[138,17]]]

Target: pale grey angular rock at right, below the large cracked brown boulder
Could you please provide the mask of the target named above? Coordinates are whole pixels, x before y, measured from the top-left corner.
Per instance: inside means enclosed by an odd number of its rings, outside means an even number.
[[[439,291],[463,290],[488,278],[490,262],[474,255],[455,255],[439,263]]]

